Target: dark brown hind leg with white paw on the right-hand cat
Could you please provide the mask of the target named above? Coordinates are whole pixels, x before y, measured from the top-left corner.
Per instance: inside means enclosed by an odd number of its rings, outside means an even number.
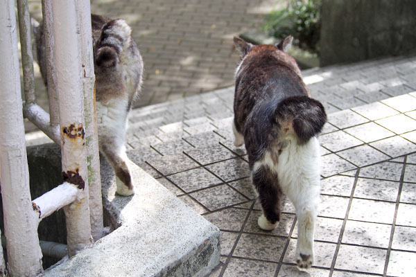
[[[263,209],[257,224],[263,230],[275,229],[281,217],[281,190],[277,184],[277,176],[268,168],[260,166],[253,172],[252,181]]]

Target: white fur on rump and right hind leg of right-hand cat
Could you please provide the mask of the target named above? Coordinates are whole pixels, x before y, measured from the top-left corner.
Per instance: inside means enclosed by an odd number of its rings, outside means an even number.
[[[266,152],[261,161],[254,163],[253,170],[266,166],[277,173],[281,190],[293,202],[298,220],[295,260],[298,267],[307,269],[313,262],[313,233],[320,201],[320,148],[315,137],[302,145],[297,144],[295,135],[287,139],[277,164]],[[260,221],[259,225],[264,224]]]

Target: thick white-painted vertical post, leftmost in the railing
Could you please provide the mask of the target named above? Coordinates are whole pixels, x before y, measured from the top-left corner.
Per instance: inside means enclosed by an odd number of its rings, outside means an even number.
[[[42,252],[29,190],[13,0],[1,1],[0,37],[0,176],[8,271],[37,276]]]

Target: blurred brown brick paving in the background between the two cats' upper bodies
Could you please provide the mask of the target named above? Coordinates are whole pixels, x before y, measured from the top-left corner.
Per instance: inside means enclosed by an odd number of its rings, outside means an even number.
[[[42,18],[40,0],[29,0]],[[92,12],[123,18],[144,59],[144,86],[136,107],[232,85],[239,53],[232,37],[261,28],[283,0],[92,0]],[[42,82],[37,82],[42,87]]]

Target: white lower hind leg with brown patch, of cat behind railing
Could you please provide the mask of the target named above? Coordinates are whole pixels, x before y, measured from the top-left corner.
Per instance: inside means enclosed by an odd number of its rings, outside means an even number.
[[[102,143],[100,148],[114,169],[117,186],[116,193],[122,196],[135,194],[130,170],[130,160],[127,154],[125,154],[125,146],[123,144],[109,143],[109,141],[112,141],[111,137],[101,139],[107,141],[107,143]]]

